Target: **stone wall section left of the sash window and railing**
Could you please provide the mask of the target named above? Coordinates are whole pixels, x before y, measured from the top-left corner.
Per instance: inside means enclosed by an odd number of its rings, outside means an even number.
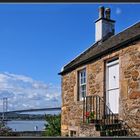
[[[75,102],[76,75],[71,72],[65,75],[62,80],[62,136],[69,135],[69,130],[76,130],[81,123],[83,116],[82,102]],[[73,129],[71,129],[73,128]]]

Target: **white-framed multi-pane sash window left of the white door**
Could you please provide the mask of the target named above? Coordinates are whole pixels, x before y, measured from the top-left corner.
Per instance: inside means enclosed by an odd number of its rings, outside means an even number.
[[[78,72],[78,101],[86,96],[86,69]]]

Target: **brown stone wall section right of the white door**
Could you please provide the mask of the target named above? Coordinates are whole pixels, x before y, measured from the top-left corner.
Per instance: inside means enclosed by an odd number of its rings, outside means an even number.
[[[121,117],[140,136],[140,43],[121,53]]]

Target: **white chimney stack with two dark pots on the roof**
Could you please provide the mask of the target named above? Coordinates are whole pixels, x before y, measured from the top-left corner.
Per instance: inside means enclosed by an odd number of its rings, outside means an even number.
[[[105,14],[105,15],[104,15]],[[95,41],[104,41],[115,34],[115,21],[110,19],[110,8],[99,7],[99,18],[95,21]]]

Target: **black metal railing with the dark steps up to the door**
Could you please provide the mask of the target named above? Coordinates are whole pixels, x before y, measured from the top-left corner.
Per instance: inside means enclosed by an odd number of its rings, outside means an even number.
[[[100,127],[100,131],[112,136],[136,136],[127,123],[119,120],[118,114],[114,114],[98,95],[86,96],[83,100],[83,123],[93,122]]]

